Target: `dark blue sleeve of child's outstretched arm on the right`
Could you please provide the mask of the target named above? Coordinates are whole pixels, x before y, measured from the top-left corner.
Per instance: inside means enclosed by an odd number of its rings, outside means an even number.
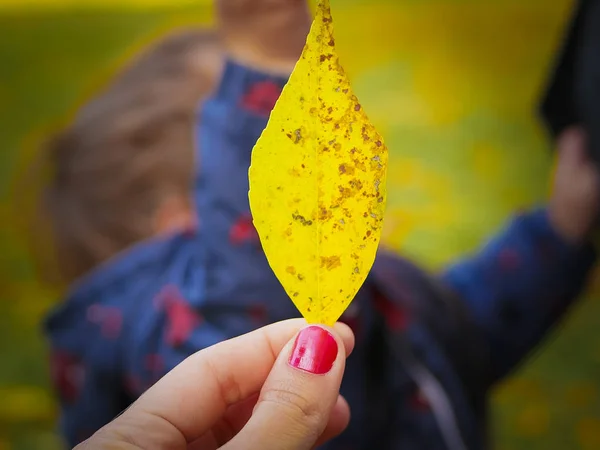
[[[506,376],[564,315],[595,260],[591,245],[565,242],[541,209],[517,217],[443,274],[485,336],[492,381]]]

